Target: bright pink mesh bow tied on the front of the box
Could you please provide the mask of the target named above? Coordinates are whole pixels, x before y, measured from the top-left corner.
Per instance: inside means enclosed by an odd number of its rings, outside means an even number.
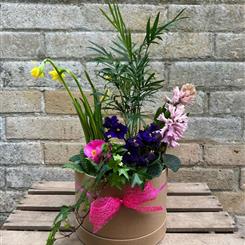
[[[159,192],[165,187],[166,184],[160,188],[154,188],[151,182],[147,182],[143,191],[140,187],[127,187],[122,199],[116,197],[97,198],[91,203],[89,212],[89,221],[93,225],[93,232],[98,232],[107,224],[120,210],[122,205],[138,212],[162,211],[164,208],[161,206],[141,205],[147,201],[156,199]]]

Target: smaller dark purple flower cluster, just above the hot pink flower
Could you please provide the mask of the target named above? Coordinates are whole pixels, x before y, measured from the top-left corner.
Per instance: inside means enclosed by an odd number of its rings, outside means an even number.
[[[106,117],[103,126],[107,129],[107,132],[105,132],[106,139],[124,139],[128,131],[128,128],[125,125],[119,123],[116,116]]]

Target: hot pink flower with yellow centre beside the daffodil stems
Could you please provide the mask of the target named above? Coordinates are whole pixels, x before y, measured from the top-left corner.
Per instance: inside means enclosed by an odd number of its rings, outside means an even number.
[[[84,147],[84,154],[86,157],[94,161],[100,162],[102,146],[105,144],[104,140],[92,140]]]

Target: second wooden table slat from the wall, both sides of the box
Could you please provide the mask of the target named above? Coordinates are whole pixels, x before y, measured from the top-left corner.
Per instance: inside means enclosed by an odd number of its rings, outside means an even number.
[[[65,205],[75,202],[74,195],[28,195],[21,200],[17,209],[57,211]],[[169,212],[207,212],[222,211],[222,206],[215,196],[169,196],[167,199]]]

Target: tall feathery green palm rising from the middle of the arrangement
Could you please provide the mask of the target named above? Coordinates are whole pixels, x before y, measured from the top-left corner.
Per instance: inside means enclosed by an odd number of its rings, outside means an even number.
[[[129,28],[122,18],[117,4],[109,4],[109,13],[101,9],[102,14],[118,32],[117,40],[112,42],[108,51],[104,47],[92,43],[90,47],[97,53],[95,61],[103,65],[99,76],[106,81],[105,87],[112,89],[107,94],[105,109],[119,113],[128,126],[128,136],[135,136],[144,125],[143,102],[162,88],[163,80],[157,80],[150,70],[150,47],[162,40],[162,34],[169,31],[177,22],[186,18],[181,10],[172,20],[160,24],[160,13],[151,23],[148,19],[143,41],[137,45]]]

